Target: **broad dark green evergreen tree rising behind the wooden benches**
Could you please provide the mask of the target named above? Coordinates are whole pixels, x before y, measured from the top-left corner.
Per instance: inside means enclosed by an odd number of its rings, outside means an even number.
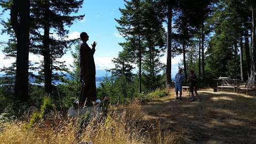
[[[214,7],[210,25],[214,28],[215,35],[211,38],[211,47],[208,51],[210,55],[207,61],[213,67],[212,72],[215,76],[227,75],[234,78],[243,78],[243,70],[239,70],[243,69],[241,65],[243,58],[240,58],[241,62],[239,62],[238,43],[240,43],[240,49],[243,50],[242,37],[246,31],[245,21],[248,17],[245,7],[242,1],[237,0],[219,1]],[[249,49],[249,46],[245,49]],[[220,51],[223,53],[220,53]],[[246,57],[250,57],[249,53],[246,54]]]

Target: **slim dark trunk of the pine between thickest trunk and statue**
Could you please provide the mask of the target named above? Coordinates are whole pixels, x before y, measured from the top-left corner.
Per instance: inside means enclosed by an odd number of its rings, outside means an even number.
[[[52,70],[51,70],[51,52],[50,52],[50,20],[49,20],[49,0],[45,0],[44,12],[44,90],[45,93],[51,94],[52,91]]]

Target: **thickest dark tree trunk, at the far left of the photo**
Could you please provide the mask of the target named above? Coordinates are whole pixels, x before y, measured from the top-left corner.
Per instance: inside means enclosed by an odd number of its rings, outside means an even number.
[[[28,55],[29,55],[29,15],[30,1],[13,0],[11,25],[17,38],[17,59],[14,99],[28,101]]]

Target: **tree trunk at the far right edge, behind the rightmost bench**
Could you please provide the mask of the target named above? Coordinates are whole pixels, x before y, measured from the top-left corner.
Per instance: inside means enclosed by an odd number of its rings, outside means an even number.
[[[255,10],[252,8],[252,62],[250,81],[255,81]]]

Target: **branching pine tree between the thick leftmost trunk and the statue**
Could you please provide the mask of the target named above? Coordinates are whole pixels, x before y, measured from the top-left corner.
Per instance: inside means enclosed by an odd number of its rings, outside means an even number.
[[[65,26],[71,26],[75,20],[81,20],[84,15],[71,15],[82,7],[83,0],[73,1],[33,1],[31,10],[31,20],[34,21],[33,39],[37,41],[33,45],[35,54],[43,55],[44,87],[46,93],[52,91],[52,81],[63,76],[61,71],[65,71],[64,62],[58,61],[68,49],[68,30]],[[44,30],[44,33],[40,31]],[[50,34],[54,31],[57,37]],[[59,75],[59,73],[61,75]]]

